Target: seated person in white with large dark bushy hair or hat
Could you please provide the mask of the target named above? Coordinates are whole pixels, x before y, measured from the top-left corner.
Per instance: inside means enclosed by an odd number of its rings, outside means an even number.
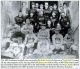
[[[4,55],[11,58],[23,59],[24,47],[23,44],[25,35],[21,32],[15,32],[11,37],[10,46],[5,50]]]

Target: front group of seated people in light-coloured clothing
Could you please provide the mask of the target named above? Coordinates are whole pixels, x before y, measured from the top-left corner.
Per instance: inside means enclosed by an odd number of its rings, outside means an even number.
[[[69,49],[69,52],[76,54],[77,45],[72,42],[70,46],[68,46],[67,41],[70,40],[69,35],[63,38],[60,32],[60,25],[54,29],[55,34],[52,35],[52,42],[50,41],[50,29],[46,29],[46,26],[41,25],[41,29],[37,34],[33,33],[33,26],[29,23],[27,19],[27,23],[23,25],[21,30],[12,29],[16,32],[11,32],[12,36],[10,38],[10,45],[5,50],[4,54],[8,55],[12,58],[28,58],[32,55],[39,56],[48,56],[50,54],[64,54],[66,49]],[[69,38],[68,38],[69,37]],[[65,42],[64,42],[65,41]],[[69,47],[67,48],[66,45]],[[66,48],[66,49],[65,49]],[[30,57],[29,57],[30,58]]]

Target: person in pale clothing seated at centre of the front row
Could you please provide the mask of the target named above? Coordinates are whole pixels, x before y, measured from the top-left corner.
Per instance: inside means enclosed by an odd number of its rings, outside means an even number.
[[[38,33],[38,45],[37,49],[34,51],[34,54],[40,56],[47,56],[51,53],[49,50],[49,30],[45,28],[44,25],[41,26],[41,30]]]

